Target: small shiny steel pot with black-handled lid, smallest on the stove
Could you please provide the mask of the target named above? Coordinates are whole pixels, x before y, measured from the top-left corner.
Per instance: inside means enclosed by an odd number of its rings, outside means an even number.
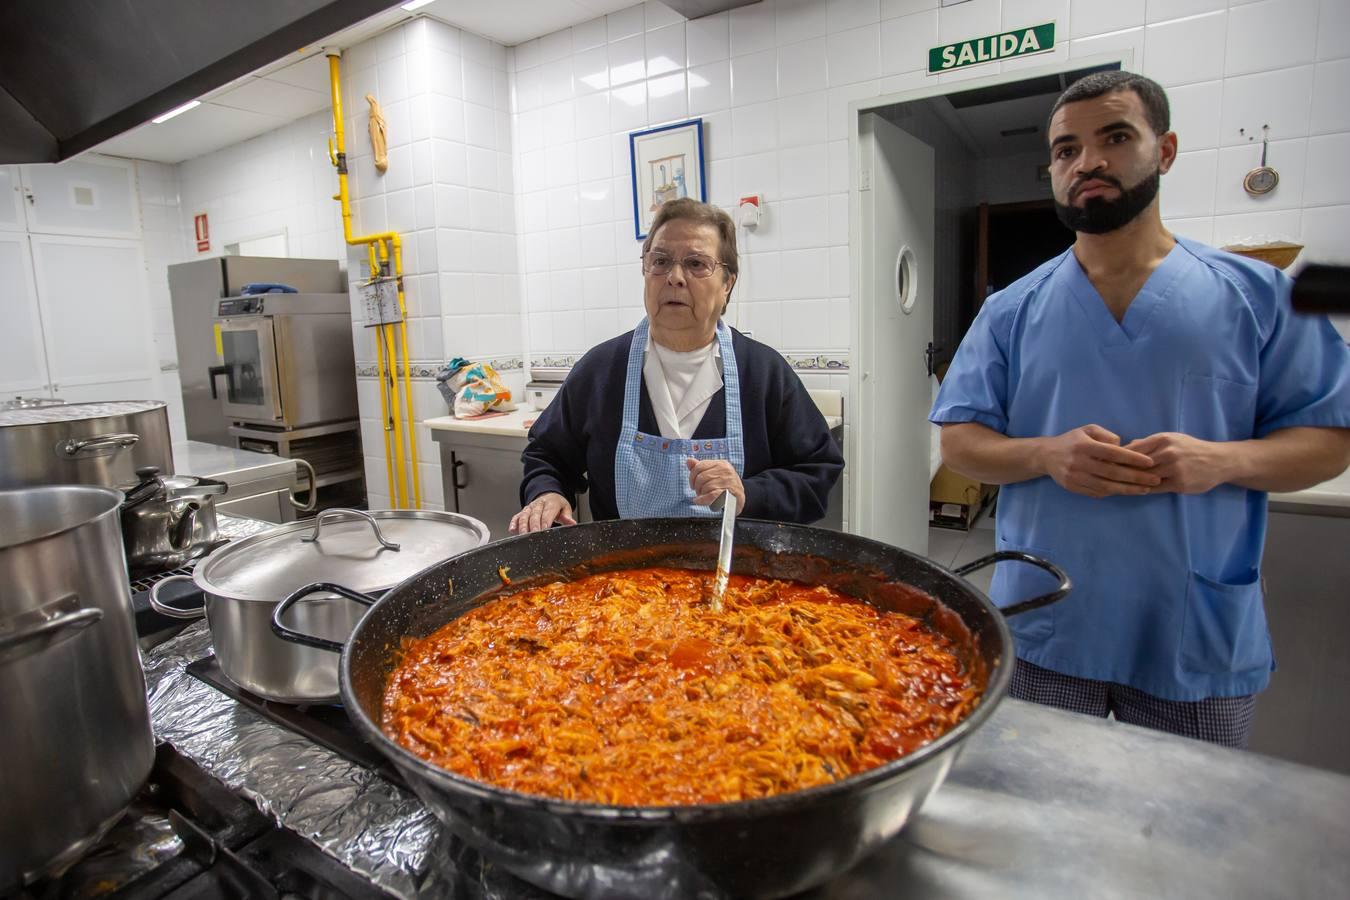
[[[136,470],[143,480],[122,503],[122,540],[131,578],[180,568],[216,549],[216,497],[224,482],[159,474],[158,466]]]

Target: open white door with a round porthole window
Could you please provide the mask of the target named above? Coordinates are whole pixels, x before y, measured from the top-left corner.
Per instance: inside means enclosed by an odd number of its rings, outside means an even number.
[[[873,113],[859,125],[850,526],[927,555],[933,148]]]

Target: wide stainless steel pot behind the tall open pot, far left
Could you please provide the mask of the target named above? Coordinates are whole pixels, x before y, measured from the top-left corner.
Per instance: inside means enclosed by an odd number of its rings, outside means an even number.
[[[158,401],[0,410],[0,490],[135,484],[136,470],[173,471],[169,413]]]

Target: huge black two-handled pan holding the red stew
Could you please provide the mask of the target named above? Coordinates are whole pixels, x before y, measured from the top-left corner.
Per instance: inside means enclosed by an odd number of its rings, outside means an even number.
[[[848,869],[895,837],[937,789],[961,745],[988,721],[1013,679],[1004,615],[1054,603],[1068,576],[1027,553],[1003,551],[954,572],[896,546],[801,525],[736,522],[732,571],[829,584],[883,610],[923,618],[963,648],[983,687],[971,715],[933,743],[842,781],[740,803],[617,807],[505,791],[414,756],[381,730],[385,685],[404,638],[435,631],[504,590],[634,565],[711,571],[720,522],[648,518],[555,528],[479,546],[446,560],[378,602],[336,584],[292,594],[273,617],[278,636],[342,652],[342,699],[367,741],[402,772],[455,835],[513,874],[568,897],[783,897]],[[1050,572],[1052,592],[999,610],[960,578],[998,561]],[[498,567],[509,567],[504,588]],[[342,594],[374,607],[346,649],[286,627],[289,607],[310,592]]]

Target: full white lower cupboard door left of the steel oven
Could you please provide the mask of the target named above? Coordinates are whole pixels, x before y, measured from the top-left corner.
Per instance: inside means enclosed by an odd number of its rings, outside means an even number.
[[[54,390],[65,399],[150,399],[159,364],[140,243],[32,236]]]

